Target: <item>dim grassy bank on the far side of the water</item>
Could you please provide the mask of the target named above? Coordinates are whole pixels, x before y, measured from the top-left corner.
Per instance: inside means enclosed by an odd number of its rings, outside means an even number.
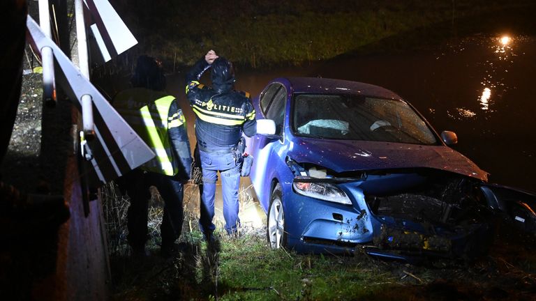
[[[455,36],[461,20],[534,6],[528,0],[117,1],[140,44],[131,52],[192,65],[208,49],[253,68],[331,59],[406,33]],[[497,18],[491,21],[496,23]],[[439,26],[439,27],[438,27]],[[436,30],[436,28],[438,30]],[[427,29],[431,29],[428,30]],[[408,39],[411,39],[408,38]],[[399,45],[392,45],[396,51]]]

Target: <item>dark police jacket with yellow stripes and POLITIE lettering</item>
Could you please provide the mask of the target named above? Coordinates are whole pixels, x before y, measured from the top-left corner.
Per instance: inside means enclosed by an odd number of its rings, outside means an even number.
[[[232,84],[209,88],[199,79],[210,65],[200,59],[186,74],[186,96],[195,113],[195,137],[203,151],[236,148],[242,132],[257,132],[255,110],[248,93],[234,91]]]

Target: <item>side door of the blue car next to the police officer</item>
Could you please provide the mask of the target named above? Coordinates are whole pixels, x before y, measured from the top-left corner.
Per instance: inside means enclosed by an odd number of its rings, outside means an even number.
[[[253,167],[250,177],[255,193],[262,207],[267,210],[271,194],[271,180],[277,178],[284,157],[278,155],[283,146],[285,124],[285,107],[287,89],[281,83],[272,83],[261,93],[258,102],[255,102],[257,118],[267,118],[276,124],[276,134],[265,136],[256,134],[248,144],[249,152],[253,155]]]

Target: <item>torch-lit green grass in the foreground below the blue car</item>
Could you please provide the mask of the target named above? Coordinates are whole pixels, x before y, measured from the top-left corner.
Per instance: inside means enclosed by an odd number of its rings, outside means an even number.
[[[170,259],[159,257],[156,245],[145,261],[112,257],[112,299],[367,300],[381,295],[383,300],[409,300],[415,295],[412,285],[431,281],[403,265],[392,272],[360,257],[270,251],[260,232],[216,237],[215,245],[207,245],[199,231],[183,233],[184,249]],[[408,288],[401,290],[404,286]]]

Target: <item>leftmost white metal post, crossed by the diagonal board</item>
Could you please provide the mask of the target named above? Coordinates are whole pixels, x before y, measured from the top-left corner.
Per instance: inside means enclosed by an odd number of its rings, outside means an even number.
[[[43,30],[43,33],[45,33],[45,36],[52,39],[48,0],[39,0],[39,26]],[[54,107],[56,105],[54,54],[50,47],[43,47],[39,50],[41,52],[41,64],[43,65],[43,99],[46,105]]]

